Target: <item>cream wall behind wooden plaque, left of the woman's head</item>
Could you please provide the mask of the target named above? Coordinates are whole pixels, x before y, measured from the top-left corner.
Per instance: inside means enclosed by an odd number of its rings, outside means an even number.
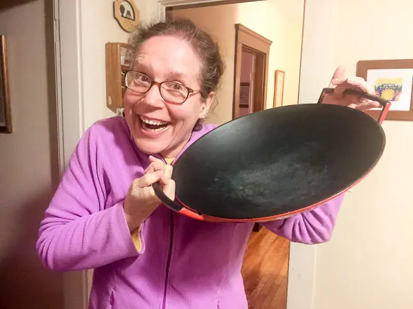
[[[134,1],[142,21],[158,16],[158,1]],[[105,43],[127,42],[128,33],[113,17],[113,1],[81,1],[83,108],[85,128],[115,115],[106,107]]]

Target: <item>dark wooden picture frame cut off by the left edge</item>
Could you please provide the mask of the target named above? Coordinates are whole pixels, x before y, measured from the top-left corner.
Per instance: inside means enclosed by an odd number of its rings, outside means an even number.
[[[0,133],[12,133],[6,36],[0,35]]]

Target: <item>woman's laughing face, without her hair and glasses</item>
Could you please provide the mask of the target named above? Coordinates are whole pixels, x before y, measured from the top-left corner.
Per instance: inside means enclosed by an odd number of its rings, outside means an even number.
[[[149,38],[138,50],[133,70],[144,74],[140,80],[178,82],[200,90],[200,60],[191,45],[180,38]],[[212,100],[213,93],[206,101],[201,100],[200,93],[190,93],[183,104],[171,104],[160,95],[158,84],[144,94],[127,89],[125,117],[140,150],[175,157],[189,141],[197,120],[208,112]]]

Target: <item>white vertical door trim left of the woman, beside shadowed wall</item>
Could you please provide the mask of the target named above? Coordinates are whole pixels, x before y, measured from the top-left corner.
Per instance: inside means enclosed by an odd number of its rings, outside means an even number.
[[[53,0],[59,179],[84,132],[85,124],[80,1]],[[87,271],[63,273],[64,309],[87,309],[87,284]]]

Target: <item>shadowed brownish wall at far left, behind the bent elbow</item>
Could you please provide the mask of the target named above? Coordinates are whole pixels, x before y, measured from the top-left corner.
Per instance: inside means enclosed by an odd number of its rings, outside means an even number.
[[[59,177],[52,1],[2,1],[14,133],[0,135],[0,308],[63,308],[63,279],[36,253]]]

